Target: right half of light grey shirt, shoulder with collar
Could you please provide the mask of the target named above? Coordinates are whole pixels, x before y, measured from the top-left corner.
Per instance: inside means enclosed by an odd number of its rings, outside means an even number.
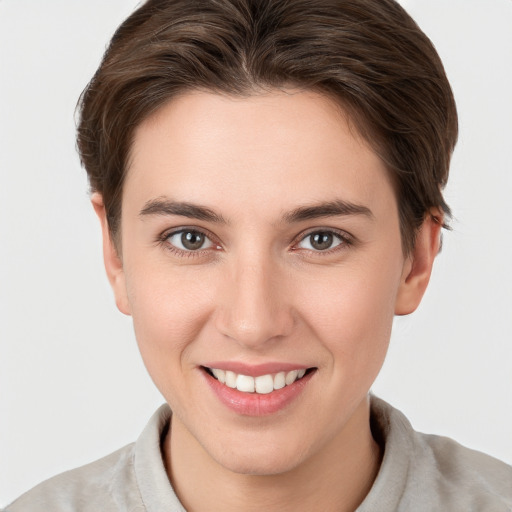
[[[416,432],[383,400],[372,396],[371,404],[384,456],[368,504],[384,498],[389,507],[380,510],[512,510],[511,466],[447,437]]]

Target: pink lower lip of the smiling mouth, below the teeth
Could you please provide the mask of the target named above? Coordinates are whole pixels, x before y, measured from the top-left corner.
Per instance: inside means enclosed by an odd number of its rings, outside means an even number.
[[[293,384],[276,389],[271,393],[244,393],[221,384],[217,379],[201,370],[210,389],[229,409],[245,416],[266,416],[274,414],[291,404],[304,390],[315,371],[312,371]]]

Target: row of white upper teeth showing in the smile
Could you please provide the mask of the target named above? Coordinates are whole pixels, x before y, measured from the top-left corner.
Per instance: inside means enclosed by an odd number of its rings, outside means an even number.
[[[293,384],[297,379],[304,377],[305,369],[292,370],[291,372],[279,372],[275,375],[267,374],[259,377],[251,377],[242,375],[229,370],[220,370],[218,368],[210,368],[214,377],[222,384],[230,388],[236,388],[238,391],[245,393],[271,393],[275,389],[281,389],[285,386]]]

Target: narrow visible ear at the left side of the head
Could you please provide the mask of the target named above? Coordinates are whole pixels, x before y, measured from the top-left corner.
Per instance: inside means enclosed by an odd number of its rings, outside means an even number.
[[[114,291],[117,308],[121,313],[130,315],[123,262],[118,254],[114,241],[112,240],[105,205],[103,204],[103,197],[101,194],[98,192],[92,194],[91,203],[101,224],[103,237],[103,262],[105,264],[108,280],[110,281],[110,286],[112,286],[112,290]]]

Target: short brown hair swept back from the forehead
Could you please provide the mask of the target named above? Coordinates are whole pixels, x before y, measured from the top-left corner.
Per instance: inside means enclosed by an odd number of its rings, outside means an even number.
[[[394,0],[148,0],[82,93],[78,149],[115,238],[134,129],[178,93],[299,87],[338,100],[394,181],[404,250],[442,189],[457,139],[437,52]]]

